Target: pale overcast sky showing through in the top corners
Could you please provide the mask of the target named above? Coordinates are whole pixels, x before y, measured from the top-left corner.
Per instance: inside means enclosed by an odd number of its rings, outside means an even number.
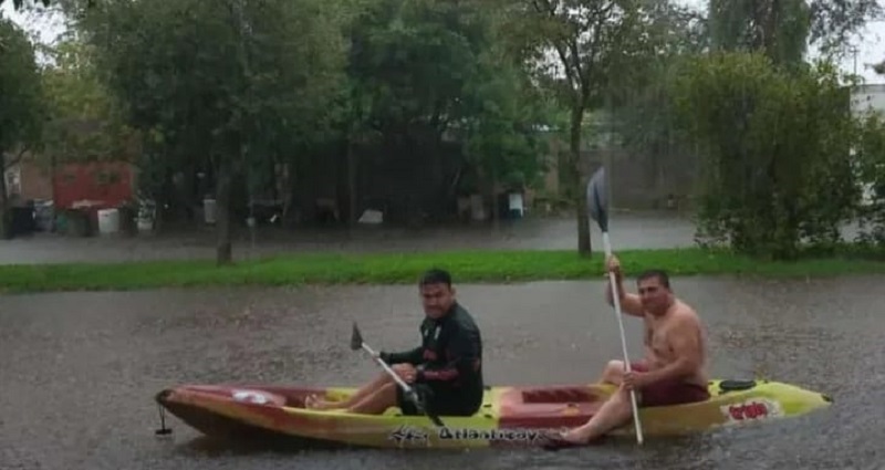
[[[878,0],[878,2],[885,6],[885,0]],[[680,3],[700,7],[705,1],[681,0]],[[64,24],[59,17],[13,12],[11,1],[3,2],[3,6],[0,7],[0,14],[3,17],[12,18],[13,21],[28,31],[39,34],[42,42],[52,42],[52,40],[64,30]],[[856,72],[860,73],[867,83],[885,84],[885,77],[877,76],[871,69],[864,66],[865,64],[876,63],[885,59],[885,48],[882,46],[883,40],[885,40],[885,22],[868,23],[863,31],[863,40],[857,41],[855,44],[857,45]],[[841,66],[845,72],[854,71],[854,59],[852,56],[846,58],[841,63]]]

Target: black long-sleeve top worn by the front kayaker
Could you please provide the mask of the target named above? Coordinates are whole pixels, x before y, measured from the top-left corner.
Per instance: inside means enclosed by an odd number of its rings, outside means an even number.
[[[414,365],[418,369],[416,384],[481,399],[482,337],[472,316],[456,302],[439,318],[426,316],[420,334],[420,346],[402,353],[382,353],[381,358],[391,365]]]

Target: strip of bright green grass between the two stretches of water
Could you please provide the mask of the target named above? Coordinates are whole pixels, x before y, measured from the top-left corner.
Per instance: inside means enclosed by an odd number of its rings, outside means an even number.
[[[647,268],[664,268],[673,275],[804,278],[885,273],[885,262],[857,257],[767,262],[726,251],[695,248],[625,250],[617,254],[628,276]],[[248,284],[413,283],[430,267],[450,270],[458,283],[602,279],[604,274],[602,253],[582,259],[572,250],[305,253],[242,261],[226,268],[217,268],[214,261],[2,265],[0,290],[41,292]]]

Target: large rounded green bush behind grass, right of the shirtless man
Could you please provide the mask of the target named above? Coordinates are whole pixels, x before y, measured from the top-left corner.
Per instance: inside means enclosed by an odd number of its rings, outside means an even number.
[[[702,232],[777,259],[839,241],[858,195],[848,94],[832,66],[792,73],[759,53],[717,53],[688,61],[674,95],[702,155]]]

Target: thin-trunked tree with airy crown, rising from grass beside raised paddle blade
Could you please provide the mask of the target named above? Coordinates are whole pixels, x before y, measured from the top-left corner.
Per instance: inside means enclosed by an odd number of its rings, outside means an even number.
[[[589,111],[604,103],[612,79],[641,46],[643,12],[636,0],[525,0],[509,6],[514,49],[525,54],[539,82],[570,111],[570,152],[562,154],[560,168],[575,203],[582,255],[591,252],[583,194],[590,168],[581,159],[583,123]]]

